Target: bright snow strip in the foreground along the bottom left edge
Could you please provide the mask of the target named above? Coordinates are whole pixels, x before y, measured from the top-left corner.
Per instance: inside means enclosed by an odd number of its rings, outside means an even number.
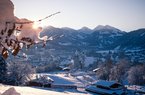
[[[0,85],[0,93],[3,93],[12,86]],[[13,86],[21,95],[91,95],[86,91],[78,91],[75,89],[54,89],[39,87],[20,87]]]

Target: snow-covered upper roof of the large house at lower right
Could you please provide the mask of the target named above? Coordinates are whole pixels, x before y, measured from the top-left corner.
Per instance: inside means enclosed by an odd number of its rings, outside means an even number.
[[[94,85],[104,86],[104,87],[110,87],[110,86],[112,86],[112,85],[114,85],[114,84],[119,84],[119,83],[117,83],[117,82],[115,82],[115,81],[99,80],[99,81],[97,81],[97,82],[95,82],[95,83],[93,83],[93,84],[94,84]]]

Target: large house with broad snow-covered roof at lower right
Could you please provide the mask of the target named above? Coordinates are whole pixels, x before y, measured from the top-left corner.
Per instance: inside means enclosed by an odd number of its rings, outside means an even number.
[[[124,86],[115,81],[99,80],[86,87],[87,91],[103,95],[123,95],[125,94]]]

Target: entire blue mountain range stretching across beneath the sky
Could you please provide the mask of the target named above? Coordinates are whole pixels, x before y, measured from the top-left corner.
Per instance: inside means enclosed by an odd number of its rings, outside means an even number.
[[[109,25],[99,25],[94,29],[82,27],[78,30],[48,26],[40,34],[40,36],[44,35],[54,39],[48,46],[55,49],[145,49],[145,29],[143,28],[125,32]]]

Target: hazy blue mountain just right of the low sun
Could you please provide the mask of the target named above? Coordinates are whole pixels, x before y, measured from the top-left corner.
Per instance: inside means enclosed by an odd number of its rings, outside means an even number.
[[[88,34],[78,32],[77,30],[71,28],[46,28],[41,33],[41,36],[47,35],[48,37],[53,37],[55,40],[50,43],[54,47],[62,47],[75,49],[81,46],[83,40],[88,36]],[[71,47],[71,48],[70,48]]]

